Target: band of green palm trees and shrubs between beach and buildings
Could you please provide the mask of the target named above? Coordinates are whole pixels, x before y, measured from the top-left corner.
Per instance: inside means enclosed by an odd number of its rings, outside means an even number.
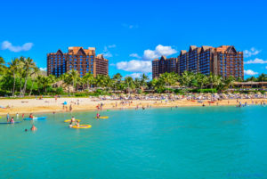
[[[214,93],[225,92],[232,87],[235,81],[243,81],[234,77],[223,78],[210,74],[208,76],[184,71],[182,76],[172,72],[161,74],[160,77],[149,80],[143,74],[141,77],[122,77],[117,73],[113,77],[91,73],[79,77],[76,70],[70,70],[55,77],[46,76],[44,71],[36,67],[31,58],[15,58],[5,62],[0,57],[0,95],[4,96],[30,96],[44,94],[65,95],[99,95],[120,93]],[[266,82],[267,75],[249,77],[246,81]]]

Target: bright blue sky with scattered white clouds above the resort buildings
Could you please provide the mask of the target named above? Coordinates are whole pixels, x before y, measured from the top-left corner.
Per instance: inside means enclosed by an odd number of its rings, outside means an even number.
[[[109,75],[150,75],[150,60],[175,57],[190,45],[235,45],[246,77],[267,73],[264,1],[3,1],[0,56],[20,55],[46,67],[46,53],[96,47]]]

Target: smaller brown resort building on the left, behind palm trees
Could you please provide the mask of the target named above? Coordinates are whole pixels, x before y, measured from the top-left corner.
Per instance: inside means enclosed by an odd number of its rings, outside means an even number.
[[[109,61],[101,54],[96,56],[93,47],[69,47],[68,53],[58,50],[57,53],[47,54],[47,75],[60,77],[71,69],[77,70],[80,77],[86,73],[108,75]]]

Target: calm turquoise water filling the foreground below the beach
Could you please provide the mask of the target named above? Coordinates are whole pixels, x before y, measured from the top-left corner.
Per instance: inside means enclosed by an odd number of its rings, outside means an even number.
[[[102,114],[72,114],[89,129],[70,129],[69,113],[45,114],[36,132],[0,125],[0,178],[267,178],[267,107]]]

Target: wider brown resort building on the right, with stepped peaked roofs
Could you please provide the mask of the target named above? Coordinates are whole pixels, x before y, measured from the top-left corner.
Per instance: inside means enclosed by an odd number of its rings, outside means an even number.
[[[234,46],[219,47],[191,45],[189,52],[182,50],[177,58],[162,56],[152,61],[152,76],[159,77],[165,72],[175,71],[182,75],[184,71],[222,77],[244,78],[243,52],[238,52]]]

